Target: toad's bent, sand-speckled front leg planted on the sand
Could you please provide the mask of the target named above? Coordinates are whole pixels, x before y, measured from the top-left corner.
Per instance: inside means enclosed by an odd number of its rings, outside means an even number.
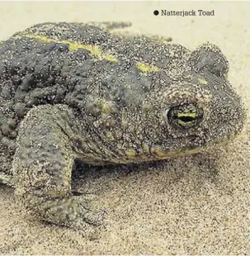
[[[81,228],[98,225],[102,214],[87,209],[82,196],[71,192],[73,111],[63,105],[35,107],[21,123],[13,172],[17,196],[41,220]],[[72,120],[72,119],[71,119]]]

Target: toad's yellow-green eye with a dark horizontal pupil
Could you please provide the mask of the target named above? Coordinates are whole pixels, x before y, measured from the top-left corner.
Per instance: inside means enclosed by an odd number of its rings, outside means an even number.
[[[167,121],[173,126],[191,128],[200,123],[204,116],[202,108],[195,104],[183,104],[166,110]]]

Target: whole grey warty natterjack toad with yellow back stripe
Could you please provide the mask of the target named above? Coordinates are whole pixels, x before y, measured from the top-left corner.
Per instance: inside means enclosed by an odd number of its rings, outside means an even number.
[[[101,223],[71,191],[76,159],[158,161],[209,151],[243,128],[217,46],[113,30],[124,26],[45,23],[0,46],[0,182],[40,220]]]

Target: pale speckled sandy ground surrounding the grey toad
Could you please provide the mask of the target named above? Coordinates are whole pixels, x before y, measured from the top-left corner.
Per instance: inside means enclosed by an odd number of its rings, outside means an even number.
[[[155,17],[153,10],[215,10],[215,17]],[[0,2],[0,40],[45,21],[132,21],[134,32],[172,36],[191,50],[219,45],[229,79],[250,109],[250,2]],[[108,212],[87,230],[45,225],[0,187],[2,254],[250,254],[250,121],[224,148],[218,173],[202,157],[157,167],[87,171],[80,191]]]

